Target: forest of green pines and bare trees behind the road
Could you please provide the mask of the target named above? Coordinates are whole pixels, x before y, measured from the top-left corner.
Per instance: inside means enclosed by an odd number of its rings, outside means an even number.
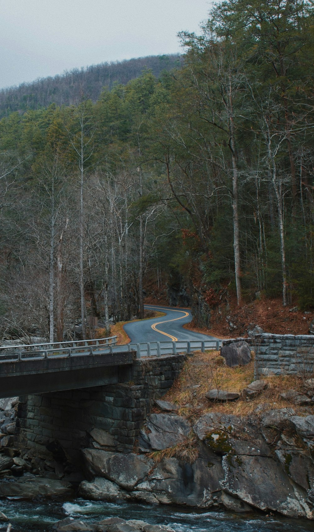
[[[0,121],[2,337],[71,339],[167,287],[314,307],[312,0],[226,0],[181,66]]]

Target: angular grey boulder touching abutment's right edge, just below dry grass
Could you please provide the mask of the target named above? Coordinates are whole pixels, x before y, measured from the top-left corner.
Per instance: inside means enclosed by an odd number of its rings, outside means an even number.
[[[175,414],[150,414],[146,427],[141,430],[140,446],[149,450],[162,450],[183,443],[191,425]]]

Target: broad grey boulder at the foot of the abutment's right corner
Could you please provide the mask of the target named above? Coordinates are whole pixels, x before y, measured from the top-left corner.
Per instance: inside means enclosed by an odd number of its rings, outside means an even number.
[[[125,489],[133,489],[154,465],[152,460],[142,454],[84,449],[83,455],[91,473],[112,480]]]

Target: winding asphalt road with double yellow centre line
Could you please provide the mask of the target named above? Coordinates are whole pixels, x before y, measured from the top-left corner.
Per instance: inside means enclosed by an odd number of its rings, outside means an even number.
[[[188,309],[159,305],[145,305],[145,308],[165,312],[166,315],[162,318],[133,321],[124,325],[123,328],[129,335],[131,343],[216,339],[214,336],[183,329],[185,323],[192,321],[192,314]]]

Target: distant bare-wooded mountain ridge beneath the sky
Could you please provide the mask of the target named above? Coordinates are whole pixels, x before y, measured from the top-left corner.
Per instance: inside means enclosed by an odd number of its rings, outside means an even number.
[[[73,69],[54,77],[5,88],[0,90],[0,118],[13,111],[38,109],[52,103],[73,105],[81,93],[96,102],[104,86],[111,89],[115,83],[126,85],[131,79],[138,78],[145,69],[151,69],[158,78],[163,70],[179,68],[182,62],[182,57],[177,54],[149,55]]]

